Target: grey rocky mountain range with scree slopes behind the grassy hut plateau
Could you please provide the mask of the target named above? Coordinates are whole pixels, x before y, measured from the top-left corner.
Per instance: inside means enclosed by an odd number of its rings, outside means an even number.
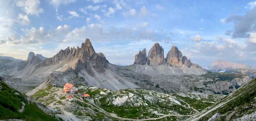
[[[90,39],[81,47],[67,47],[51,58],[31,52],[27,60],[4,64],[6,68],[1,72],[10,76],[9,80],[18,79],[28,84],[28,91],[33,83],[62,86],[71,82],[112,90],[145,88],[166,93],[228,94],[249,80],[245,74],[207,73],[175,46],[164,58],[164,49],[159,43],[152,46],[148,55],[146,49],[139,51],[134,64],[129,66],[109,63],[103,53],[95,52]]]

